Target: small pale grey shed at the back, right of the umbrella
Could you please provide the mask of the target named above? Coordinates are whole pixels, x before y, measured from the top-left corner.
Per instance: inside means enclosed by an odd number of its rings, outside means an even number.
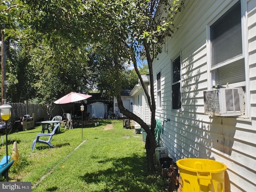
[[[108,105],[102,102],[94,102],[90,105],[87,105],[87,112],[90,113],[90,117],[92,118],[107,118],[106,116],[108,113]]]

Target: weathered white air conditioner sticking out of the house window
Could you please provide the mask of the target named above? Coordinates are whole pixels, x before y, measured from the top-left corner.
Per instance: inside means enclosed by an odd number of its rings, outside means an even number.
[[[241,116],[244,112],[244,92],[238,88],[219,88],[204,91],[204,114]]]

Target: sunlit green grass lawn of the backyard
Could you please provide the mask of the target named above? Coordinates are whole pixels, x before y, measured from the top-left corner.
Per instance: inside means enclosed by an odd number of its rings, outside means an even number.
[[[157,174],[147,171],[142,135],[122,128],[122,120],[99,122],[99,126],[83,128],[83,138],[81,128],[61,128],[52,137],[54,148],[36,143],[33,152],[40,126],[10,134],[18,142],[20,158],[9,171],[9,181],[32,182],[34,192],[165,191],[167,182],[161,179],[160,170]],[[11,153],[12,144],[8,148]],[[0,157],[5,152],[4,145]]]

